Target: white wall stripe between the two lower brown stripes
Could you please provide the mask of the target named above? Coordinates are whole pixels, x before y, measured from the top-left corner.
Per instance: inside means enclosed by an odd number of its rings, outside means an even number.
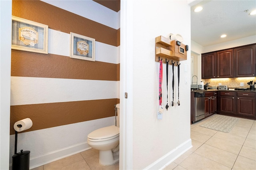
[[[116,81],[11,77],[11,105],[116,99]]]

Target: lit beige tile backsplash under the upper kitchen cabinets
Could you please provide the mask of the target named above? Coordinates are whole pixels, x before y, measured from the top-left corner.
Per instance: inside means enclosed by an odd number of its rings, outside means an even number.
[[[254,84],[254,82],[256,82],[256,77],[204,79],[204,84],[210,83],[210,86],[215,86],[215,85],[218,85],[218,83],[221,83],[221,85],[227,85],[229,88],[230,87],[250,88],[250,85],[247,84],[249,81],[253,81],[253,84]],[[244,86],[240,86],[240,83],[244,83]]]

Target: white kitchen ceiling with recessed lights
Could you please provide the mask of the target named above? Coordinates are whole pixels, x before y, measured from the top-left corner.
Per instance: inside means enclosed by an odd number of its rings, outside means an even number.
[[[203,10],[194,12],[197,6]],[[203,0],[191,7],[191,40],[205,47],[256,35],[252,10],[256,0]],[[222,34],[227,37],[220,38]]]

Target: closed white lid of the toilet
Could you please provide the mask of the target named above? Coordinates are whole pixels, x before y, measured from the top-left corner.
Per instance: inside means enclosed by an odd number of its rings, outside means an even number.
[[[90,139],[105,139],[111,137],[119,136],[119,127],[116,126],[109,126],[104,128],[99,128],[94,130],[90,134],[88,134],[88,138]]]

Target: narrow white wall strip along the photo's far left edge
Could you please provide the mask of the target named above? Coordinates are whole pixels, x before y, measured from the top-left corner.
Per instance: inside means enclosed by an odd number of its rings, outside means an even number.
[[[9,169],[12,1],[0,0],[0,169]]]

